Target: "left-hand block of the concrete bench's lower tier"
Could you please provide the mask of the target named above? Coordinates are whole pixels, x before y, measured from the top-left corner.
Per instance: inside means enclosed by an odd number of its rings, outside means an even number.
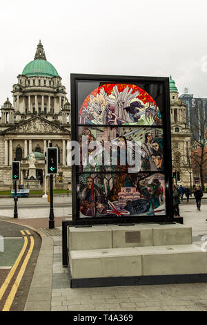
[[[135,248],[70,252],[72,278],[131,277],[141,275],[141,254]]]

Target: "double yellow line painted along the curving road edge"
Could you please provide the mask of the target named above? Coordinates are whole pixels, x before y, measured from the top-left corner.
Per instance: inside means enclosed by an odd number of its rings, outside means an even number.
[[[12,305],[12,302],[14,300],[14,297],[17,293],[17,289],[19,288],[19,284],[21,282],[21,279],[23,277],[23,274],[26,270],[26,266],[28,264],[28,261],[30,259],[30,256],[32,254],[32,250],[34,248],[34,238],[33,236],[30,234],[30,232],[28,230],[26,230],[26,233],[28,235],[30,235],[30,248],[26,254],[26,257],[23,260],[23,263],[21,264],[21,268],[18,272],[17,278],[14,281],[14,284],[10,290],[10,294],[8,295],[7,299],[6,299],[6,303],[3,306],[2,311],[9,311],[10,307]],[[8,288],[8,285],[10,284],[10,281],[14,275],[14,272],[17,270],[19,263],[23,257],[23,254],[26,252],[26,248],[28,245],[28,236],[26,236],[25,232],[23,230],[21,230],[21,234],[23,234],[23,239],[24,239],[24,243],[23,243],[23,248],[21,249],[21,252],[19,253],[19,256],[17,257],[14,265],[12,266],[8,276],[6,277],[6,280],[3,282],[3,285],[0,288],[0,300],[3,297],[3,294],[5,293],[6,289]]]

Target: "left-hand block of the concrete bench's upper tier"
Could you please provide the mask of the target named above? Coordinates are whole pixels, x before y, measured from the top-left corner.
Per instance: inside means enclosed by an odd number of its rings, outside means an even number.
[[[89,228],[68,226],[68,250],[112,248],[112,230],[106,225]]]

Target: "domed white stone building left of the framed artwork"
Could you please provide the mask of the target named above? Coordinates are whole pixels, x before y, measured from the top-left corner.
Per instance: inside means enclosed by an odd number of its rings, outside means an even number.
[[[0,120],[0,189],[11,189],[11,165],[21,162],[19,184],[30,188],[44,187],[46,147],[58,147],[59,176],[56,188],[68,188],[71,171],[67,159],[70,141],[70,103],[61,77],[47,61],[41,41],[34,60],[17,76],[12,87],[13,105],[7,99],[1,106]],[[34,152],[36,178],[28,180],[28,155]]]

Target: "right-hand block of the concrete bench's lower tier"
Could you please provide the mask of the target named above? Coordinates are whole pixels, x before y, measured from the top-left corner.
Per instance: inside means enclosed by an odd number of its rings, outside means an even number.
[[[207,273],[207,254],[195,245],[135,248],[142,255],[143,275]]]

